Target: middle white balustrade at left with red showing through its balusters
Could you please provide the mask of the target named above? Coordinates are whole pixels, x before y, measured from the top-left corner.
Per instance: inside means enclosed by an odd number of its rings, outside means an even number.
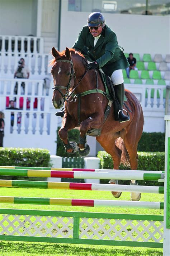
[[[18,86],[17,94],[14,93],[15,86]],[[9,100],[15,100],[15,107],[23,111],[48,112],[51,87],[44,87],[44,80],[0,78],[0,109],[9,107]]]

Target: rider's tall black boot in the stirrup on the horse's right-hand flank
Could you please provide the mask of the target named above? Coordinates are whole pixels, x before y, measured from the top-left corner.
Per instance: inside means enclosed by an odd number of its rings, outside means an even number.
[[[130,118],[129,118],[129,114],[128,112],[123,109],[123,103],[124,103],[124,84],[120,84],[120,85],[114,85],[114,92],[115,92],[115,96],[116,98],[118,99],[118,102],[120,104],[120,109],[118,111],[118,120],[120,123],[123,123],[123,122],[127,122],[127,121],[130,121]],[[125,111],[128,116],[126,116],[123,111]]]

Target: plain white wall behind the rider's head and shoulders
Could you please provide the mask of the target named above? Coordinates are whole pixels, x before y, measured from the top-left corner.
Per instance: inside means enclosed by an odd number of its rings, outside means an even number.
[[[60,50],[71,48],[81,28],[86,25],[88,12],[69,12],[68,1],[62,1]],[[108,26],[117,34],[125,52],[170,53],[170,15],[132,15],[104,13]]]

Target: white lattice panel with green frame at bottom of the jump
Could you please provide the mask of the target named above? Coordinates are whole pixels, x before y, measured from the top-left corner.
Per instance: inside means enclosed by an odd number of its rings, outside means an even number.
[[[0,240],[162,248],[163,216],[0,209]]]

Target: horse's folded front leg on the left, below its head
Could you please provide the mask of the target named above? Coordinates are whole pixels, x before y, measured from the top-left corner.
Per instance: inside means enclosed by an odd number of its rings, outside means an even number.
[[[74,154],[78,149],[76,142],[69,142],[68,140],[68,131],[75,128],[75,126],[76,126],[75,121],[72,120],[70,116],[65,114],[62,122],[62,126],[58,131],[58,135],[60,136],[60,139],[63,142],[65,151],[69,154]]]

